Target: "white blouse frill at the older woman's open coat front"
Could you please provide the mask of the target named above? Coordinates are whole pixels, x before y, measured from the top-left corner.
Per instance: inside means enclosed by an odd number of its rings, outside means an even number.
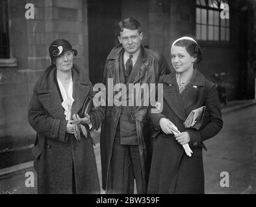
[[[58,80],[58,87],[60,87],[60,93],[62,95],[63,98],[63,102],[61,103],[62,107],[65,109],[64,111],[64,115],[66,116],[66,120],[70,120],[71,119],[71,107],[72,104],[74,102],[74,99],[72,97],[73,95],[73,81],[72,78],[70,80],[70,84],[68,85],[68,94],[66,94],[66,91],[64,89],[64,86],[62,84],[62,82],[60,82],[60,80]]]

